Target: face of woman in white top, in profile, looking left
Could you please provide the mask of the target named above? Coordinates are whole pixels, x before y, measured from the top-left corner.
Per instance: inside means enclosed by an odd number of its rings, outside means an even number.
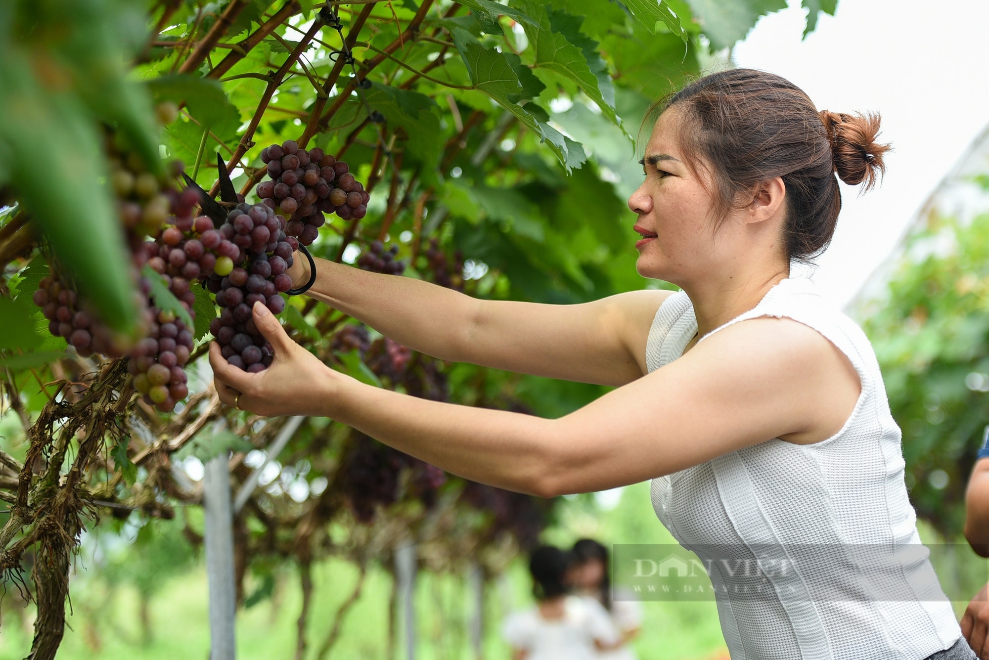
[[[711,195],[698,178],[707,176],[706,169],[698,167],[695,174],[684,162],[677,139],[680,124],[676,108],[656,121],[642,161],[645,180],[628,207],[639,216],[636,271],[682,287],[709,272],[717,259],[717,240],[711,230]]]

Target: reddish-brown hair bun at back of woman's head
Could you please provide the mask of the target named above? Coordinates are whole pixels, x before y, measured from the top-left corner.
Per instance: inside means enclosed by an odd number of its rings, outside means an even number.
[[[877,175],[881,177],[886,172],[882,156],[891,148],[889,144],[875,141],[879,134],[879,116],[849,115],[827,110],[822,110],[819,115],[828,130],[838,177],[850,186],[864,181],[864,190],[872,188]]]

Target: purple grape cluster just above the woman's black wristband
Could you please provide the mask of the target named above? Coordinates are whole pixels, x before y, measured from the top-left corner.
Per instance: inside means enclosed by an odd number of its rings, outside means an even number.
[[[286,233],[310,245],[326,218],[333,213],[344,219],[362,218],[371,196],[354,179],[342,160],[316,147],[300,149],[295,140],[272,144],[261,151],[270,181],[262,181],[255,192],[265,205],[289,218]]]

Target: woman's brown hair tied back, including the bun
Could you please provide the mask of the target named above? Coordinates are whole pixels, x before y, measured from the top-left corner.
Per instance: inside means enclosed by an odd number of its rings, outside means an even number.
[[[700,78],[662,109],[684,111],[680,144],[696,169],[709,165],[714,210],[748,206],[756,187],[781,177],[786,186],[786,252],[806,261],[831,242],[842,208],[838,178],[875,185],[888,144],[875,141],[878,115],[818,113],[804,92],[780,76],[729,69]]]

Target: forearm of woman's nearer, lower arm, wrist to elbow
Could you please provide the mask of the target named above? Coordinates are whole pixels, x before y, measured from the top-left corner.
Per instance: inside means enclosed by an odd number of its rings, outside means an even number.
[[[507,490],[551,497],[561,448],[558,421],[429,401],[347,382],[326,414],[448,472]]]

